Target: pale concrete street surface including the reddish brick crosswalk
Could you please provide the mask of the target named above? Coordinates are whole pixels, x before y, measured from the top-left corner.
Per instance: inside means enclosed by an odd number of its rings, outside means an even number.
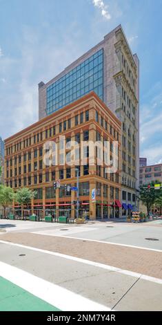
[[[162,310],[161,223],[151,227],[150,224],[60,225],[3,220],[1,225],[7,232],[0,234],[0,263],[9,268],[8,280],[15,279],[10,279],[12,267],[15,275],[25,272],[21,286],[28,282],[28,277],[36,277],[40,285],[34,292],[31,287],[23,289],[50,305],[52,302],[55,308],[65,310],[65,305],[54,295],[54,286],[59,286],[59,291],[68,290],[69,295],[82,299],[78,310],[84,299],[88,299],[85,306],[92,308],[97,304],[101,310]],[[159,241],[145,240],[149,236]],[[1,270],[0,276],[3,276]],[[33,280],[33,287],[37,281]],[[41,286],[44,292],[45,286],[50,288],[52,300],[48,301],[45,293],[44,296],[37,293]],[[77,306],[71,306],[71,310]]]

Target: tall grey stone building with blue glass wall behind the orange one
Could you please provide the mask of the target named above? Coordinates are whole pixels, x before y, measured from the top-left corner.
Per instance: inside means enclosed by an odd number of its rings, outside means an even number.
[[[121,26],[47,84],[39,83],[39,120],[94,91],[122,122],[122,201],[139,187],[139,59]],[[124,213],[125,214],[125,213]]]

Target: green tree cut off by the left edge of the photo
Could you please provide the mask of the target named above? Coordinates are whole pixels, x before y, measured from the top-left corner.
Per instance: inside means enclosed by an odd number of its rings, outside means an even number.
[[[11,187],[0,185],[0,204],[3,206],[6,216],[6,207],[12,204],[14,191]]]

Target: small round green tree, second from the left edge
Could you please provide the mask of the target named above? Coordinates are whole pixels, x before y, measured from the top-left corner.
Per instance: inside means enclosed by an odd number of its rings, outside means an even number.
[[[23,205],[29,205],[32,198],[36,196],[37,191],[32,191],[28,189],[28,187],[23,187],[22,189],[18,189],[15,195],[15,201],[19,203],[23,207]]]

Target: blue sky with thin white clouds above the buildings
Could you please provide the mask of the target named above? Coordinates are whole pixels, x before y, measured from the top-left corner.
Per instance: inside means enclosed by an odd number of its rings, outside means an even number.
[[[140,155],[162,163],[162,0],[0,0],[0,136],[38,120],[48,82],[121,24],[140,60]]]

